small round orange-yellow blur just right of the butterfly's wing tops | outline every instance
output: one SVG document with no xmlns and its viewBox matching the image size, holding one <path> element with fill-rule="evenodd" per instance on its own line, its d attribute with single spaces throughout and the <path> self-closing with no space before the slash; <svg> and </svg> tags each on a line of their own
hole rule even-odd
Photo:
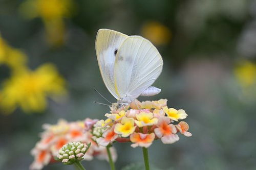
<svg viewBox="0 0 256 170">
<path fill-rule="evenodd" d="M 145 23 L 142 26 L 141 34 L 155 45 L 166 44 L 172 38 L 172 32 L 157 21 Z"/>
</svg>

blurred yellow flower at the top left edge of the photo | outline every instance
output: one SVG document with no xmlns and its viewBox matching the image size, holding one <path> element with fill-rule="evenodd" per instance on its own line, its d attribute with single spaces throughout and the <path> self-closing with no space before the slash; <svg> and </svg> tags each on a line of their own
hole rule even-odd
<svg viewBox="0 0 256 170">
<path fill-rule="evenodd" d="M 20 12 L 29 19 L 42 18 L 48 42 L 59 46 L 65 38 L 63 18 L 71 16 L 72 8 L 72 0 L 27 0 L 20 6 Z"/>
</svg>

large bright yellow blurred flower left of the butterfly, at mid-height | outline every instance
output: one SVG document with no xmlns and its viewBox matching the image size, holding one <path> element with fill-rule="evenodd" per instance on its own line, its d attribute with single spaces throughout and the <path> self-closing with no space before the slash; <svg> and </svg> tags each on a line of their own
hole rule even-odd
<svg viewBox="0 0 256 170">
<path fill-rule="evenodd" d="M 25 112 L 46 109 L 47 96 L 53 99 L 66 93 L 65 81 L 52 64 L 44 64 L 35 71 L 24 69 L 3 84 L 0 107 L 5 113 L 21 107 Z"/>
</svg>

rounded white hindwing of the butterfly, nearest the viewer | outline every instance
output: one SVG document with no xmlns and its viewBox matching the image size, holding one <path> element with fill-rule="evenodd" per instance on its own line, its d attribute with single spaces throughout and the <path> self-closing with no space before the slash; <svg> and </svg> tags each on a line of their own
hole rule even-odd
<svg viewBox="0 0 256 170">
<path fill-rule="evenodd" d="M 163 60 L 157 48 L 141 36 L 121 44 L 114 66 L 115 92 L 120 99 L 134 100 L 158 78 Z"/>
</svg>

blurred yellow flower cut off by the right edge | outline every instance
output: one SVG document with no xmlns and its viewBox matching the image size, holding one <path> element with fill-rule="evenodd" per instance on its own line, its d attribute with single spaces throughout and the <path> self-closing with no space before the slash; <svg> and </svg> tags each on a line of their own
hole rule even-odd
<svg viewBox="0 0 256 170">
<path fill-rule="evenodd" d="M 234 74 L 244 88 L 256 85 L 256 64 L 244 61 L 235 68 Z"/>
</svg>

